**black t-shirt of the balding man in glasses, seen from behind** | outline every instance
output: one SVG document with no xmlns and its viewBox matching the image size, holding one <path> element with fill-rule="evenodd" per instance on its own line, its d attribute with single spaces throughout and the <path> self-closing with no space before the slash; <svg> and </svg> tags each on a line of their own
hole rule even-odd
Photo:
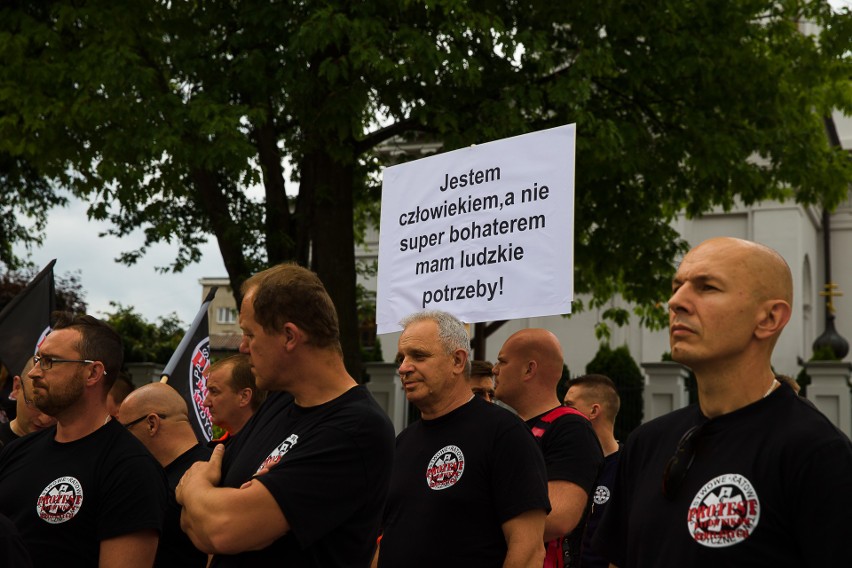
<svg viewBox="0 0 852 568">
<path fill-rule="evenodd" d="M 190 538 L 180 528 L 180 505 L 175 499 L 175 488 L 186 470 L 197 461 L 208 461 L 211 450 L 206 445 L 197 444 L 181 455 L 164 469 L 169 484 L 169 501 L 163 522 L 163 533 L 157 547 L 155 568 L 191 568 L 207 566 L 207 554 L 192 544 Z"/>
</svg>

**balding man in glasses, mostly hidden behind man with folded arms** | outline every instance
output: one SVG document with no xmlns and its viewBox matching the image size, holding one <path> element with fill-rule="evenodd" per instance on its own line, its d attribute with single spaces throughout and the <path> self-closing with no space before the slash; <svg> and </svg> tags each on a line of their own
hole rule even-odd
<svg viewBox="0 0 852 568">
<path fill-rule="evenodd" d="M 144 385 L 121 403 L 119 420 L 160 462 L 168 479 L 168 509 L 154 566 L 207 566 L 207 555 L 180 528 L 180 505 L 175 500 L 175 487 L 184 472 L 197 461 L 207 461 L 211 453 L 195 438 L 183 397 L 167 384 Z"/>
</svg>

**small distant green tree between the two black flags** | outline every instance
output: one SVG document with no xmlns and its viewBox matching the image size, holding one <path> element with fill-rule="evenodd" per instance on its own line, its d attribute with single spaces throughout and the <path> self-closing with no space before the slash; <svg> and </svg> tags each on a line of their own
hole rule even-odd
<svg viewBox="0 0 852 568">
<path fill-rule="evenodd" d="M 147 321 L 133 306 L 110 302 L 112 312 L 105 314 L 106 322 L 121 336 L 124 343 L 124 362 L 154 362 L 166 364 L 180 344 L 186 331 L 177 314 Z"/>
</svg>

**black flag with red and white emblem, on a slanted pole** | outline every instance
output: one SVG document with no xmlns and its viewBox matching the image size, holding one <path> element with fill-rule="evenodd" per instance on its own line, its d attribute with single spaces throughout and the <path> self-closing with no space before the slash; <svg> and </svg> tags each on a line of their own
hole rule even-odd
<svg viewBox="0 0 852 568">
<path fill-rule="evenodd" d="M 210 289 L 201 308 L 192 320 L 186 335 L 163 369 L 161 382 L 168 382 L 177 390 L 189 407 L 189 422 L 195 437 L 201 443 L 213 437 L 213 422 L 210 410 L 202 406 L 207 397 L 207 373 L 210 370 L 210 331 L 207 323 L 207 307 L 213 301 L 218 288 Z"/>
</svg>

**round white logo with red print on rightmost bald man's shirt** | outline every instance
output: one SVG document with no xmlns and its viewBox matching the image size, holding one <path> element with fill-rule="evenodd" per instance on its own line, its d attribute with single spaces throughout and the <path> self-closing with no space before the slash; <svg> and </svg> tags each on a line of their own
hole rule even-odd
<svg viewBox="0 0 852 568">
<path fill-rule="evenodd" d="M 760 520 L 760 501 L 751 482 L 736 473 L 720 475 L 702 487 L 689 507 L 689 534 L 708 548 L 747 539 Z"/>
</svg>

